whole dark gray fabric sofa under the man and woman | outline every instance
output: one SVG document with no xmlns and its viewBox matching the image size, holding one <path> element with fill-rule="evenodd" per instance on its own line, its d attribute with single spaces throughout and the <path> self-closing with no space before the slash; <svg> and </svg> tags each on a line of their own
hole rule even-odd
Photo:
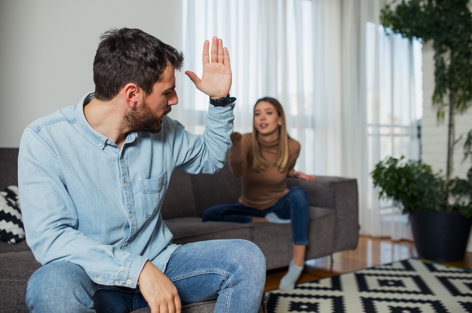
<svg viewBox="0 0 472 313">
<path fill-rule="evenodd" d="M 17 184 L 17 157 L 17 148 L 0 148 L 0 191 Z M 358 201 L 354 179 L 317 177 L 305 182 L 287 178 L 286 183 L 289 188 L 302 186 L 308 193 L 310 224 L 306 259 L 357 246 Z M 164 222 L 174 235 L 173 242 L 246 239 L 261 248 L 267 258 L 267 270 L 288 266 L 292 259 L 289 224 L 202 222 L 204 209 L 236 202 L 240 190 L 240 179 L 230 173 L 228 165 L 212 175 L 190 175 L 176 170 L 161 210 Z M 15 245 L 0 242 L 0 312 L 28 312 L 26 283 L 40 266 L 25 241 Z M 207 312 L 199 311 L 198 307 L 191 305 L 183 312 Z M 208 310 L 208 305 L 205 307 Z"/>
</svg>

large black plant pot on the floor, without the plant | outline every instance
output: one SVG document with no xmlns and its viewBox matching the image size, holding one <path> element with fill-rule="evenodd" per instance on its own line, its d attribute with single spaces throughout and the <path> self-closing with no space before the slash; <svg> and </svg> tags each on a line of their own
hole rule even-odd
<svg viewBox="0 0 472 313">
<path fill-rule="evenodd" d="M 410 210 L 409 214 L 420 257 L 437 261 L 464 259 L 472 218 L 466 219 L 459 212 Z"/>
</svg>

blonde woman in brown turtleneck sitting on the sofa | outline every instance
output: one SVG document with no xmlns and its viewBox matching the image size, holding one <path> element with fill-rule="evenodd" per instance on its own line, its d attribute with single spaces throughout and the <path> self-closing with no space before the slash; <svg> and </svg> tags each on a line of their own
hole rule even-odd
<svg viewBox="0 0 472 313">
<path fill-rule="evenodd" d="M 229 166 L 236 177 L 243 177 L 242 195 L 239 203 L 206 209 L 203 221 L 291 223 L 294 257 L 279 289 L 293 289 L 308 244 L 308 198 L 301 187 L 288 190 L 284 180 L 315 177 L 294 170 L 300 144 L 288 136 L 282 105 L 274 98 L 257 100 L 253 132 L 234 132 L 231 141 Z"/>
</svg>

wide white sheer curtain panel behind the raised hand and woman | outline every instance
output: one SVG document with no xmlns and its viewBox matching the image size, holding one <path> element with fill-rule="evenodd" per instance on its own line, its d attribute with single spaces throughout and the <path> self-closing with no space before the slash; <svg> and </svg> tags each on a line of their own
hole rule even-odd
<svg viewBox="0 0 472 313">
<path fill-rule="evenodd" d="M 213 36 L 228 47 L 237 97 L 235 130 L 252 130 L 263 96 L 284 106 L 291 137 L 302 146 L 296 169 L 339 175 L 340 2 L 183 0 L 185 69 L 202 72 L 202 46 Z M 183 79 L 179 119 L 201 133 L 207 97 Z"/>
</svg>

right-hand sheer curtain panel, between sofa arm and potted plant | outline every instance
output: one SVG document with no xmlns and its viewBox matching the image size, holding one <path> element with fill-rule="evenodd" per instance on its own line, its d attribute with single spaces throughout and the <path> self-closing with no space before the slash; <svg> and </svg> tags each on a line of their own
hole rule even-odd
<svg viewBox="0 0 472 313">
<path fill-rule="evenodd" d="M 342 173 L 358 181 L 361 234 L 412 239 L 408 217 L 379 200 L 369 175 L 385 157 L 420 157 L 421 43 L 385 34 L 386 2 L 343 2 Z"/>
</svg>

